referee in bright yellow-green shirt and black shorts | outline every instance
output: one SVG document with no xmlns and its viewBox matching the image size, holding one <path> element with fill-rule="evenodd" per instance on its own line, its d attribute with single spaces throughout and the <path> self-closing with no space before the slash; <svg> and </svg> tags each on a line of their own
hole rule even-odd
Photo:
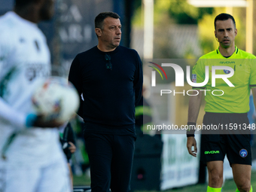
<svg viewBox="0 0 256 192">
<path fill-rule="evenodd" d="M 201 56 L 192 71 L 192 81 L 202 83 L 206 76 L 205 68 L 209 66 L 209 81 L 204 87 L 193 87 L 198 95 L 190 96 L 187 124 L 191 128 L 196 126 L 201 99 L 205 94 L 206 114 L 203 125 L 216 125 L 225 131 L 223 133 L 221 129 L 208 132 L 202 130 L 200 160 L 206 164 L 209 172 L 207 192 L 221 192 L 223 161 L 226 154 L 233 170 L 236 192 L 252 191 L 250 127 L 247 112 L 250 90 L 256 103 L 256 65 L 253 64 L 256 57 L 235 46 L 236 35 L 236 22 L 230 14 L 219 14 L 215 17 L 215 38 L 219 42 L 219 47 Z M 221 78 L 216 79 L 215 86 L 212 85 L 212 66 L 232 68 L 234 74 L 227 81 L 234 87 L 230 87 L 230 84 Z M 216 70 L 216 74 L 230 74 L 230 68 Z M 212 94 L 212 91 L 215 93 Z M 194 129 L 187 131 L 187 150 L 190 155 L 197 157 Z"/>
</svg>

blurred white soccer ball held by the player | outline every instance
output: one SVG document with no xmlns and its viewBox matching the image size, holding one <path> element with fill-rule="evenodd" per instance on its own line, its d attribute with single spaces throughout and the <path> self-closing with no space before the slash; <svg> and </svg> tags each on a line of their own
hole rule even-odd
<svg viewBox="0 0 256 192">
<path fill-rule="evenodd" d="M 64 123 L 74 117 L 79 108 L 79 96 L 75 87 L 66 78 L 50 77 L 41 82 L 32 95 L 37 114 L 44 120 Z"/>
</svg>

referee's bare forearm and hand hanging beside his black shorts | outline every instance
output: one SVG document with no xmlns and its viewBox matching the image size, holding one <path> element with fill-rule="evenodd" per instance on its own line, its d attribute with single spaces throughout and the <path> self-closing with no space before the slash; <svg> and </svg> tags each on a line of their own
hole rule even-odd
<svg viewBox="0 0 256 192">
<path fill-rule="evenodd" d="M 196 94 L 196 93 L 193 93 Z M 187 122 L 197 122 L 197 117 L 200 111 L 200 105 L 202 101 L 203 92 L 199 91 L 197 96 L 190 96 L 188 103 L 188 115 Z M 194 151 L 192 151 L 192 146 L 194 146 Z M 194 136 L 187 137 L 187 151 L 193 157 L 197 157 L 197 141 Z"/>
</svg>

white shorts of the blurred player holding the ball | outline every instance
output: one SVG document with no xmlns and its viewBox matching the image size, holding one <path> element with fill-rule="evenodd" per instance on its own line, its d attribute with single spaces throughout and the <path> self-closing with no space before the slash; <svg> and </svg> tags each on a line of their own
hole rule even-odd
<svg viewBox="0 0 256 192">
<path fill-rule="evenodd" d="M 71 192 L 67 163 L 0 169 L 0 192 Z"/>
</svg>

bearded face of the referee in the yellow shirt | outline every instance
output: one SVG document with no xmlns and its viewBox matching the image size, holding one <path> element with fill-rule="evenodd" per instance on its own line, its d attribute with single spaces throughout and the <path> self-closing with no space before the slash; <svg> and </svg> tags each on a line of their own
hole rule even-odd
<svg viewBox="0 0 256 192">
<path fill-rule="evenodd" d="M 215 25 L 215 37 L 218 38 L 220 46 L 223 48 L 232 47 L 237 34 L 233 20 L 217 20 Z"/>
</svg>

